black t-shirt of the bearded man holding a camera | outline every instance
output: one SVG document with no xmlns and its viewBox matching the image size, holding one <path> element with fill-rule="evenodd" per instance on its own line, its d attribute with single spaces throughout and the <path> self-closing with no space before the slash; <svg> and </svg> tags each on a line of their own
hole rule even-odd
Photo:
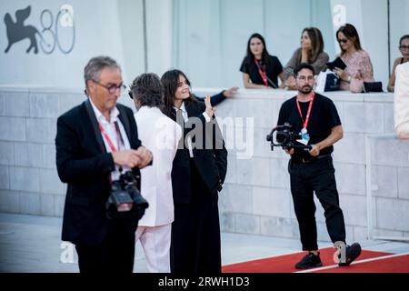
<svg viewBox="0 0 409 291">
<path fill-rule="evenodd" d="M 310 102 L 300 102 L 304 120 L 309 105 Z M 301 129 L 303 128 L 303 120 L 301 119 L 296 105 L 296 96 L 285 101 L 281 106 L 277 125 L 284 125 L 286 122 L 293 125 L 294 134 L 298 135 L 301 132 Z M 323 141 L 331 135 L 332 128 L 337 125 L 341 125 L 341 119 L 339 118 L 334 102 L 323 95 L 315 93 L 314 104 L 307 125 L 308 134 L 310 135 L 308 145 L 315 145 Z M 325 147 L 320 151 L 320 156 L 331 154 L 333 151 L 334 146 Z M 302 157 L 311 158 L 311 155 L 304 150 L 296 149 L 292 157 L 294 159 L 300 159 Z"/>
</svg>

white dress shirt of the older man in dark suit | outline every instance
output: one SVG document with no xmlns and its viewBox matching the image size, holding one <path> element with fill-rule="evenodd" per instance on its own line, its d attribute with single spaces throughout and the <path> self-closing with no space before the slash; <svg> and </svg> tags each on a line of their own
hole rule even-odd
<svg viewBox="0 0 409 291">
<path fill-rule="evenodd" d="M 93 103 L 93 101 L 91 100 L 91 98 L 89 98 L 89 101 L 91 102 L 91 105 L 93 106 L 94 113 L 95 113 L 95 116 L 96 116 L 96 121 L 100 125 L 103 126 L 103 128 L 105 130 L 105 134 L 108 135 L 109 139 L 111 140 L 111 142 L 115 146 L 115 151 L 130 149 L 131 145 L 129 144 L 128 135 L 126 135 L 124 125 L 122 125 L 121 120 L 118 118 L 118 115 L 119 115 L 118 108 L 116 108 L 116 106 L 115 106 L 114 109 L 111 110 L 111 112 L 110 112 L 110 117 L 111 117 L 110 119 L 111 120 L 108 121 L 108 120 L 106 120 L 105 116 L 101 113 L 101 111 L 99 111 L 99 109 L 96 108 L 96 106 Z M 121 140 L 121 138 L 119 138 L 119 140 L 118 140 L 118 135 L 116 133 L 115 123 L 118 124 L 119 132 L 120 132 L 120 135 L 122 137 L 122 140 Z M 112 153 L 111 146 L 109 146 L 108 141 L 106 140 L 106 138 L 105 138 L 105 136 L 103 135 L 102 132 L 101 132 L 101 135 L 102 135 L 103 140 L 104 140 L 106 152 L 107 153 Z M 119 168 L 120 168 L 120 166 L 115 165 L 115 171 L 113 171 L 111 173 L 111 179 L 113 181 L 117 180 L 119 178 L 119 176 L 121 175 L 121 173 L 119 172 Z M 123 173 L 125 173 L 126 171 L 131 170 L 130 168 L 125 167 L 125 166 L 123 166 L 122 169 L 123 169 Z"/>
</svg>

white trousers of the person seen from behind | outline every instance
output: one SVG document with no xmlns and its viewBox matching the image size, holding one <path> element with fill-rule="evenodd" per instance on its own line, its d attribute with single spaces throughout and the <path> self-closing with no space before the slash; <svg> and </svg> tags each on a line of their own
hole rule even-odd
<svg viewBox="0 0 409 291">
<path fill-rule="evenodd" d="M 138 226 L 135 242 L 144 248 L 146 266 L 150 273 L 170 273 L 170 243 L 172 224 Z"/>
</svg>

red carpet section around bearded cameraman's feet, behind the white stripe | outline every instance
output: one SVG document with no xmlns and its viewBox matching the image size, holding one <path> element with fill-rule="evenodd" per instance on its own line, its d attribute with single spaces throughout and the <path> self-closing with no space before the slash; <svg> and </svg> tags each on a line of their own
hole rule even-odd
<svg viewBox="0 0 409 291">
<path fill-rule="evenodd" d="M 327 247 L 320 250 L 321 260 L 324 266 L 333 266 L 334 263 L 334 248 Z M 238 263 L 234 265 L 228 265 L 222 267 L 223 273 L 294 273 L 296 270 L 294 268 L 295 263 L 297 263 L 303 256 L 305 252 L 295 253 L 291 255 L 284 256 L 274 256 L 264 259 L 258 259 L 254 261 L 248 261 L 244 263 Z M 372 251 L 362 251 L 361 256 L 359 256 L 356 261 L 364 260 L 368 258 L 387 256 L 391 255 L 389 253 L 380 253 Z M 345 272 L 345 267 L 340 268 Z"/>
</svg>

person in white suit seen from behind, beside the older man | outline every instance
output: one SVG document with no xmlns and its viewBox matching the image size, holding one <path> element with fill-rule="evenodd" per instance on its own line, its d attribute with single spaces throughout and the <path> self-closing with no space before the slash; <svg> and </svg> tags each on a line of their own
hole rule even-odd
<svg viewBox="0 0 409 291">
<path fill-rule="evenodd" d="M 164 87 L 155 74 L 135 78 L 129 93 L 134 99 L 138 136 L 152 151 L 153 165 L 141 170 L 141 195 L 149 203 L 139 220 L 135 241 L 144 248 L 147 269 L 151 273 L 170 272 L 170 244 L 174 221 L 172 164 L 182 128 L 161 112 Z"/>
</svg>

